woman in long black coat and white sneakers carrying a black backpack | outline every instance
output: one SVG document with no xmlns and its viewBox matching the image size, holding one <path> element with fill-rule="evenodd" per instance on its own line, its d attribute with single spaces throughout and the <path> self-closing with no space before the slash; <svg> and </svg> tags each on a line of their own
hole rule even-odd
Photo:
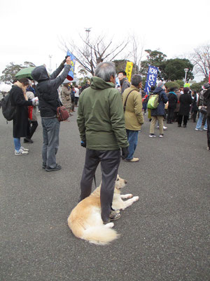
<svg viewBox="0 0 210 281">
<path fill-rule="evenodd" d="M 29 80 L 22 78 L 15 81 L 10 90 L 11 105 L 15 106 L 13 118 L 15 155 L 26 155 L 29 152 L 27 148 L 23 148 L 20 144 L 20 138 L 29 135 L 28 106 L 33 105 L 32 100 L 27 100 L 27 86 L 29 86 Z"/>
</svg>

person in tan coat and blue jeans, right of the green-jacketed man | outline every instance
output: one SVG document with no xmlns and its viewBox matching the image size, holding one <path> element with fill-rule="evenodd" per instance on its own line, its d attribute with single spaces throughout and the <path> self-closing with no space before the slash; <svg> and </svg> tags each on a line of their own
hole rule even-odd
<svg viewBox="0 0 210 281">
<path fill-rule="evenodd" d="M 134 74 L 131 83 L 130 88 L 125 89 L 122 96 L 125 111 L 125 128 L 129 142 L 129 154 L 125 161 L 138 162 L 139 158 L 134 158 L 134 152 L 137 148 L 139 130 L 141 130 L 141 125 L 144 124 L 141 93 L 139 93 L 142 87 L 141 75 Z"/>
</svg>

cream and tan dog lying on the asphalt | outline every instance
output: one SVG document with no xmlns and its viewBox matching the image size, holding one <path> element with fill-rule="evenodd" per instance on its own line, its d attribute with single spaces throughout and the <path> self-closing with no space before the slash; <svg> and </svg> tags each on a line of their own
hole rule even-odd
<svg viewBox="0 0 210 281">
<path fill-rule="evenodd" d="M 125 209 L 139 200 L 139 196 L 132 194 L 120 195 L 120 189 L 124 188 L 127 181 L 123 178 L 116 179 L 112 208 L 115 210 Z M 108 244 L 118 238 L 116 230 L 113 230 L 113 223 L 104 225 L 101 217 L 100 186 L 91 193 L 89 197 L 80 201 L 71 211 L 68 218 L 68 225 L 73 234 L 83 240 L 94 244 Z M 130 198 L 126 201 L 123 199 Z"/>
</svg>

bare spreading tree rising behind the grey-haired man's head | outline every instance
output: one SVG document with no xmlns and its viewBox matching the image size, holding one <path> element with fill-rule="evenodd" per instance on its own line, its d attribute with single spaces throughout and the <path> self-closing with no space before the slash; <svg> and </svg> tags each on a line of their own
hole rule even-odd
<svg viewBox="0 0 210 281">
<path fill-rule="evenodd" d="M 128 44 L 127 41 L 121 41 L 117 45 L 113 45 L 113 40 L 108 41 L 105 37 L 99 36 L 95 39 L 80 36 L 80 43 L 75 44 L 74 41 L 66 42 L 61 40 L 64 51 L 69 50 L 76 58 L 76 61 L 90 74 L 94 74 L 97 64 L 103 61 L 113 61 Z"/>
</svg>

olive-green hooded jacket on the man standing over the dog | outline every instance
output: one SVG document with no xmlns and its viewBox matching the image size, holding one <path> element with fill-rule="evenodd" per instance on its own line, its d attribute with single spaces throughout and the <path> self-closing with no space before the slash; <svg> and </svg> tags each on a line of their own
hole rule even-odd
<svg viewBox="0 0 210 281">
<path fill-rule="evenodd" d="M 90 87 L 80 95 L 77 123 L 80 139 L 90 150 L 118 150 L 129 145 L 123 103 L 111 82 L 92 77 Z"/>
</svg>

